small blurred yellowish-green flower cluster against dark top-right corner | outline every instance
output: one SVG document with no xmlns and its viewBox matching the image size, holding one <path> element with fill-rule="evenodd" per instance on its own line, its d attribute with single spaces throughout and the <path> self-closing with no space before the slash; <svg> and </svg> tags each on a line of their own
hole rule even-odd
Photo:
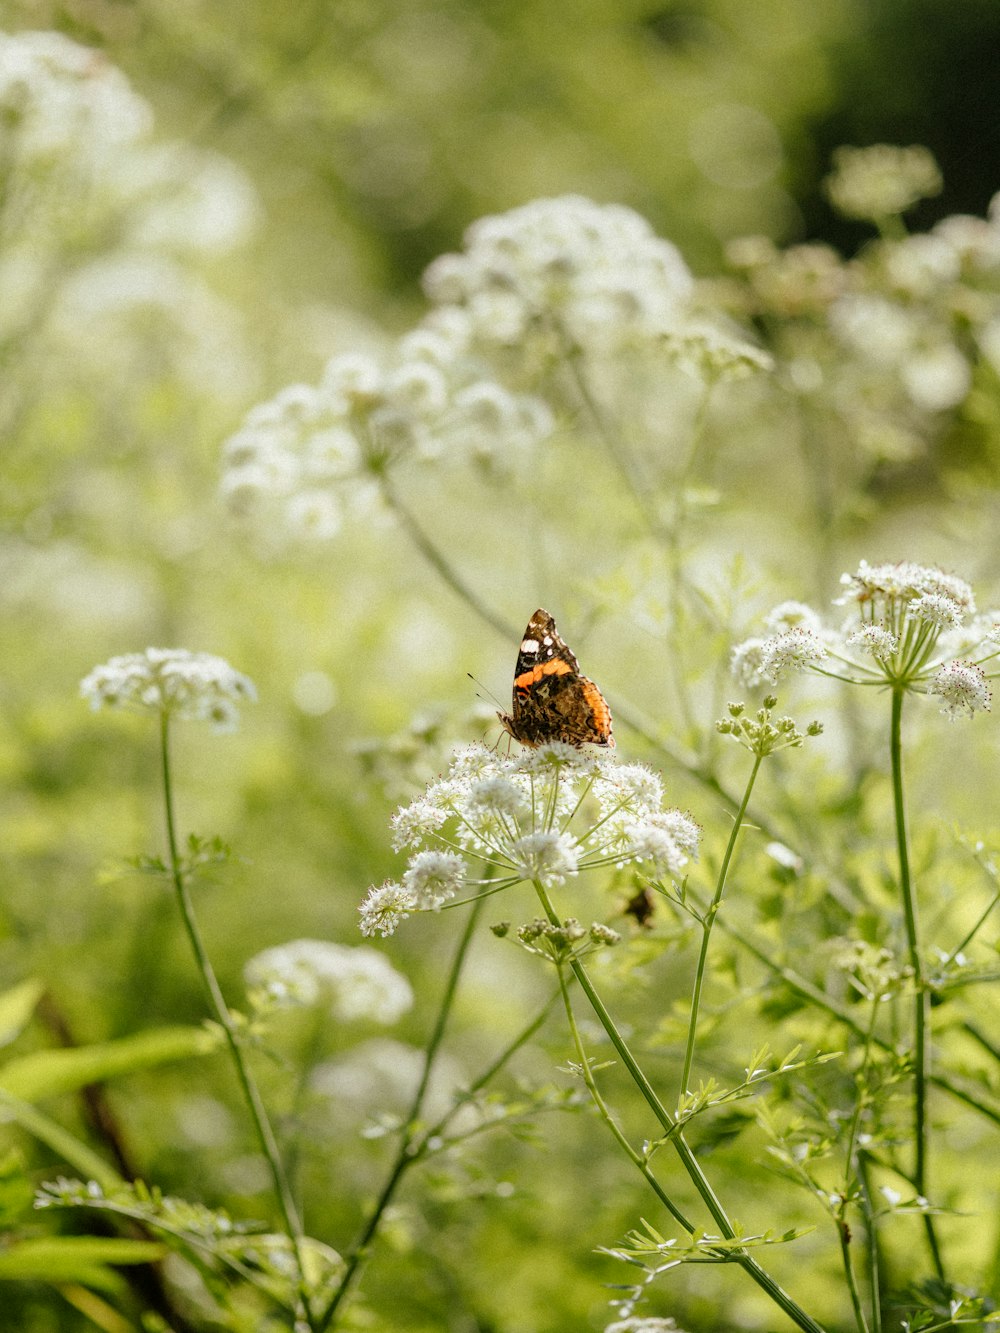
<svg viewBox="0 0 1000 1333">
<path fill-rule="evenodd" d="M 941 193 L 941 173 L 927 148 L 837 148 L 824 185 L 844 217 L 880 223 L 905 213 L 921 199 Z"/>
</svg>

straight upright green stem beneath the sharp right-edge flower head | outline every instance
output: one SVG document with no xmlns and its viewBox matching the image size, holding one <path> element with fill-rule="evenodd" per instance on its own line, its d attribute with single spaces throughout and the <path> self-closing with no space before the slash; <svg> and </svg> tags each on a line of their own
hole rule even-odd
<svg viewBox="0 0 1000 1333">
<path fill-rule="evenodd" d="M 917 922 L 917 902 L 913 880 L 909 872 L 909 846 L 907 838 L 907 813 L 903 798 L 903 685 L 892 690 L 892 724 L 889 752 L 892 760 L 892 802 L 896 817 L 896 850 L 899 856 L 900 893 L 907 924 L 907 948 L 913 973 L 913 1188 L 921 1198 L 927 1197 L 927 1076 L 928 1076 L 928 1032 L 927 1020 L 931 997 L 924 981 L 924 966 L 920 957 L 920 929 Z M 935 1233 L 933 1220 L 924 1214 L 924 1232 L 931 1250 L 935 1270 L 944 1278 L 941 1252 Z"/>
</svg>

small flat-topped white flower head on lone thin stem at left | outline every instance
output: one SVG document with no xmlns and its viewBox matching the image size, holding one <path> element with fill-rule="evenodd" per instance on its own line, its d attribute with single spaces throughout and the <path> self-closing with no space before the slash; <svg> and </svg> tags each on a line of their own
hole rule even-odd
<svg viewBox="0 0 1000 1333">
<path fill-rule="evenodd" d="M 235 729 L 239 705 L 256 698 L 252 681 L 221 657 L 185 648 L 112 657 L 80 681 L 80 693 L 95 709 L 148 709 L 208 721 L 223 732 Z"/>
</svg>

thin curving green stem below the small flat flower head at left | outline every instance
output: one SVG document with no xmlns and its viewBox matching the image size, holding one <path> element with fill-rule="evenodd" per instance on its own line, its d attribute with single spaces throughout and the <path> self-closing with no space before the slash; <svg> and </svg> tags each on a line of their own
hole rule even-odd
<svg viewBox="0 0 1000 1333">
<path fill-rule="evenodd" d="M 304 1232 L 301 1220 L 299 1217 L 299 1210 L 292 1197 L 292 1190 L 288 1184 L 288 1177 L 285 1176 L 284 1166 L 281 1165 L 281 1154 L 279 1152 L 277 1141 L 275 1133 L 271 1128 L 271 1121 L 268 1120 L 267 1110 L 264 1109 L 264 1102 L 261 1100 L 257 1085 L 253 1080 L 253 1074 L 249 1070 L 247 1058 L 244 1056 L 243 1044 L 240 1034 L 233 1022 L 229 1006 L 225 1002 L 221 988 L 215 974 L 215 969 L 208 957 L 204 941 L 201 940 L 201 932 L 197 925 L 197 918 L 195 917 L 195 905 L 188 890 L 187 878 L 184 874 L 184 868 L 181 865 L 180 850 L 177 846 L 177 828 L 173 816 L 173 782 L 171 776 L 171 748 L 169 748 L 169 714 L 165 709 L 160 713 L 160 757 L 161 757 L 161 770 L 163 770 L 163 793 L 164 793 L 164 808 L 167 814 L 167 845 L 169 849 L 171 858 L 171 880 L 173 882 L 173 892 L 177 900 L 177 908 L 180 909 L 181 920 L 184 922 L 184 930 L 187 932 L 188 941 L 191 944 L 192 952 L 195 954 L 195 961 L 197 964 L 197 970 L 201 976 L 201 984 L 205 989 L 205 996 L 208 998 L 209 1008 L 215 1014 L 223 1033 L 225 1034 L 225 1044 L 229 1048 L 229 1054 L 232 1056 L 233 1066 L 236 1069 L 236 1077 L 240 1084 L 240 1090 L 243 1092 L 243 1098 L 247 1102 L 247 1108 L 253 1122 L 253 1129 L 260 1145 L 260 1150 L 267 1160 L 268 1168 L 271 1170 L 271 1180 L 275 1186 L 275 1194 L 277 1197 L 277 1205 L 281 1212 L 281 1218 L 285 1226 L 285 1234 L 292 1242 L 295 1249 L 296 1264 L 299 1269 L 299 1300 L 303 1305 L 303 1312 L 309 1328 L 316 1333 L 316 1321 L 309 1305 L 309 1296 L 305 1282 L 305 1264 L 303 1258 L 303 1240 Z"/>
</svg>

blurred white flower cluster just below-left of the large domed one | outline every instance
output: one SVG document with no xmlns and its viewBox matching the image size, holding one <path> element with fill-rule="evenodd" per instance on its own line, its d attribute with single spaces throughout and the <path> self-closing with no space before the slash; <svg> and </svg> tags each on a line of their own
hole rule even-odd
<svg viewBox="0 0 1000 1333">
<path fill-rule="evenodd" d="M 549 409 L 484 373 L 467 335 L 463 320 L 431 316 L 384 360 L 337 356 L 317 385 L 292 384 L 253 408 L 223 449 L 228 507 L 324 540 L 407 459 L 503 465 L 537 444 L 553 429 Z"/>
</svg>

